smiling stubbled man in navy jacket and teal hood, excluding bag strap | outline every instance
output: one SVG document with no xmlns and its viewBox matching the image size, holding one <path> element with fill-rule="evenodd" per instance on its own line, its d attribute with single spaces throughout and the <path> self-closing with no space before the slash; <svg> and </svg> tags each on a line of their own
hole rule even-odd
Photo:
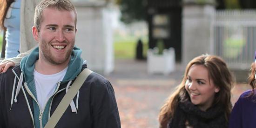
<svg viewBox="0 0 256 128">
<path fill-rule="evenodd" d="M 74 47 L 76 11 L 68 0 L 43 0 L 32 28 L 35 48 L 0 75 L 0 128 L 43 128 L 68 88 L 84 69 Z M 13 85 L 13 86 L 11 86 Z M 92 73 L 55 128 L 120 128 L 114 89 Z"/>
</svg>

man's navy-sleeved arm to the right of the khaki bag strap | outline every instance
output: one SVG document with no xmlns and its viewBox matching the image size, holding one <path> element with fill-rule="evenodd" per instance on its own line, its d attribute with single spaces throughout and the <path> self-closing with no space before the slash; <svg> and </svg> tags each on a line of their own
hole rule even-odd
<svg viewBox="0 0 256 128">
<path fill-rule="evenodd" d="M 92 86 L 93 128 L 121 128 L 115 92 L 108 80 Z"/>
</svg>

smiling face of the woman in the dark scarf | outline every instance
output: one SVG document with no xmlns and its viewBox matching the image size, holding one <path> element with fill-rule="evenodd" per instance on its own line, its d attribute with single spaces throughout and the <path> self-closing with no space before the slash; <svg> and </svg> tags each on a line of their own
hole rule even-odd
<svg viewBox="0 0 256 128">
<path fill-rule="evenodd" d="M 219 92 L 219 88 L 209 78 L 208 70 L 202 65 L 190 67 L 185 88 L 189 93 L 191 102 L 202 111 L 211 107 L 215 94 Z"/>
</svg>

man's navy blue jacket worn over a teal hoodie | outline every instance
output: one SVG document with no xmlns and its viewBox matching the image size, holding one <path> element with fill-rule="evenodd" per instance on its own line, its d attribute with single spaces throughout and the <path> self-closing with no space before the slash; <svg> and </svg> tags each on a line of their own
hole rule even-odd
<svg viewBox="0 0 256 128">
<path fill-rule="evenodd" d="M 13 70 L 20 76 L 20 66 L 14 67 Z M 10 110 L 14 77 L 11 69 L 8 69 L 7 73 L 0 74 L 0 128 L 33 128 L 33 117 L 29 112 L 25 96 L 33 113 L 32 97 L 27 93 L 24 85 L 22 85 L 24 91 L 20 90 L 17 97 L 18 102 L 13 102 Z M 64 89 L 66 86 L 67 83 L 61 85 L 59 90 L 63 89 L 63 91 L 54 95 L 50 115 L 66 94 Z M 80 88 L 77 114 L 71 112 L 68 106 L 55 128 L 121 128 L 115 93 L 110 82 L 97 73 L 90 74 Z"/>
</svg>

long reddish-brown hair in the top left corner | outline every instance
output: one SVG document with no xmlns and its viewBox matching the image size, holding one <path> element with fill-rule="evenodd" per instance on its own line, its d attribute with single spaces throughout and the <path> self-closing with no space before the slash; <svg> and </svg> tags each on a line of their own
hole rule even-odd
<svg viewBox="0 0 256 128">
<path fill-rule="evenodd" d="M 6 30 L 4 27 L 6 13 L 13 2 L 14 0 L 0 0 L 0 28 L 3 30 Z"/>
</svg>

